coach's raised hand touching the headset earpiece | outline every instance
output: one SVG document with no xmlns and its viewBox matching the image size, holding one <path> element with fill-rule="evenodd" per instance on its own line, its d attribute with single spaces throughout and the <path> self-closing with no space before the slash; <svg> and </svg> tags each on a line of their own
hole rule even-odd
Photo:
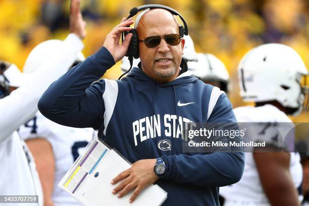
<svg viewBox="0 0 309 206">
<path fill-rule="evenodd" d="M 105 38 L 103 46 L 109 50 L 111 55 L 114 57 L 115 62 L 120 61 L 127 53 L 132 34 L 129 33 L 126 35 L 122 44 L 119 43 L 119 40 L 121 32 L 130 31 L 132 29 L 129 27 L 131 24 L 133 24 L 132 18 L 127 20 L 126 18 L 123 18 L 121 23 L 115 26 Z"/>
</svg>

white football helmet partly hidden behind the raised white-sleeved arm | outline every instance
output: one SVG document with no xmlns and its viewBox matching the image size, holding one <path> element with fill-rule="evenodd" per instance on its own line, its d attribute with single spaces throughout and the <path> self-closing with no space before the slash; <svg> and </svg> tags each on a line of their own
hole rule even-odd
<svg viewBox="0 0 309 206">
<path fill-rule="evenodd" d="M 32 73 L 38 67 L 40 67 L 44 62 L 48 61 L 49 58 L 53 57 L 55 54 L 61 54 L 62 44 L 63 44 L 63 41 L 53 39 L 53 40 L 44 41 L 38 44 L 37 46 L 35 46 L 31 50 L 25 62 L 25 65 L 23 67 L 23 72 Z M 77 53 L 76 60 L 72 66 L 75 66 L 79 62 L 82 62 L 84 60 L 85 60 L 84 55 L 81 52 L 79 52 Z"/>
</svg>

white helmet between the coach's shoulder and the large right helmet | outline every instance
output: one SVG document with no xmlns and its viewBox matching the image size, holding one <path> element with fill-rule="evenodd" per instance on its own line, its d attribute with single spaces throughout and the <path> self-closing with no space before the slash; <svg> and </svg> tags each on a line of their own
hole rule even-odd
<svg viewBox="0 0 309 206">
<path fill-rule="evenodd" d="M 197 62 L 188 62 L 188 71 L 205 82 L 218 82 L 226 93 L 230 90 L 229 73 L 217 57 L 212 54 L 197 53 Z"/>
</svg>

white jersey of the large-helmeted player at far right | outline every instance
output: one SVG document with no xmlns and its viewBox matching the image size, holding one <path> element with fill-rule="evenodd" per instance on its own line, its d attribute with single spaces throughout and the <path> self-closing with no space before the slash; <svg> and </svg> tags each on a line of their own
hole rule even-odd
<svg viewBox="0 0 309 206">
<path fill-rule="evenodd" d="M 283 126 L 288 127 L 285 128 L 287 131 L 294 125 L 285 113 L 272 105 L 261 107 L 240 107 L 234 109 L 234 113 L 238 122 L 286 122 L 287 124 Z M 280 128 L 280 132 L 285 133 L 282 128 Z M 283 135 L 284 134 L 282 134 L 282 136 Z M 270 143 L 272 140 L 267 141 L 264 139 L 263 141 Z M 287 144 L 288 145 L 285 146 L 291 148 L 291 142 L 287 142 Z M 220 188 L 220 195 L 225 198 L 224 206 L 270 206 L 268 198 L 261 185 L 252 152 L 246 152 L 245 156 L 244 173 L 241 180 L 236 184 Z M 290 153 L 290 173 L 295 189 L 298 189 L 302 182 L 302 168 L 298 153 Z M 299 195 L 300 200 L 301 198 L 302 195 Z"/>
</svg>

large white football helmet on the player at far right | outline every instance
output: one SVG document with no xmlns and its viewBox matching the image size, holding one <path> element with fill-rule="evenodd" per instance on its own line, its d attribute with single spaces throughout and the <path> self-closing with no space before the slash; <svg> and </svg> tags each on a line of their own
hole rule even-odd
<svg viewBox="0 0 309 206">
<path fill-rule="evenodd" d="M 291 47 L 269 43 L 251 49 L 242 58 L 238 74 L 244 101 L 277 100 L 283 107 L 295 109 L 291 115 L 301 112 L 308 87 L 300 83 L 308 71 Z"/>
</svg>

